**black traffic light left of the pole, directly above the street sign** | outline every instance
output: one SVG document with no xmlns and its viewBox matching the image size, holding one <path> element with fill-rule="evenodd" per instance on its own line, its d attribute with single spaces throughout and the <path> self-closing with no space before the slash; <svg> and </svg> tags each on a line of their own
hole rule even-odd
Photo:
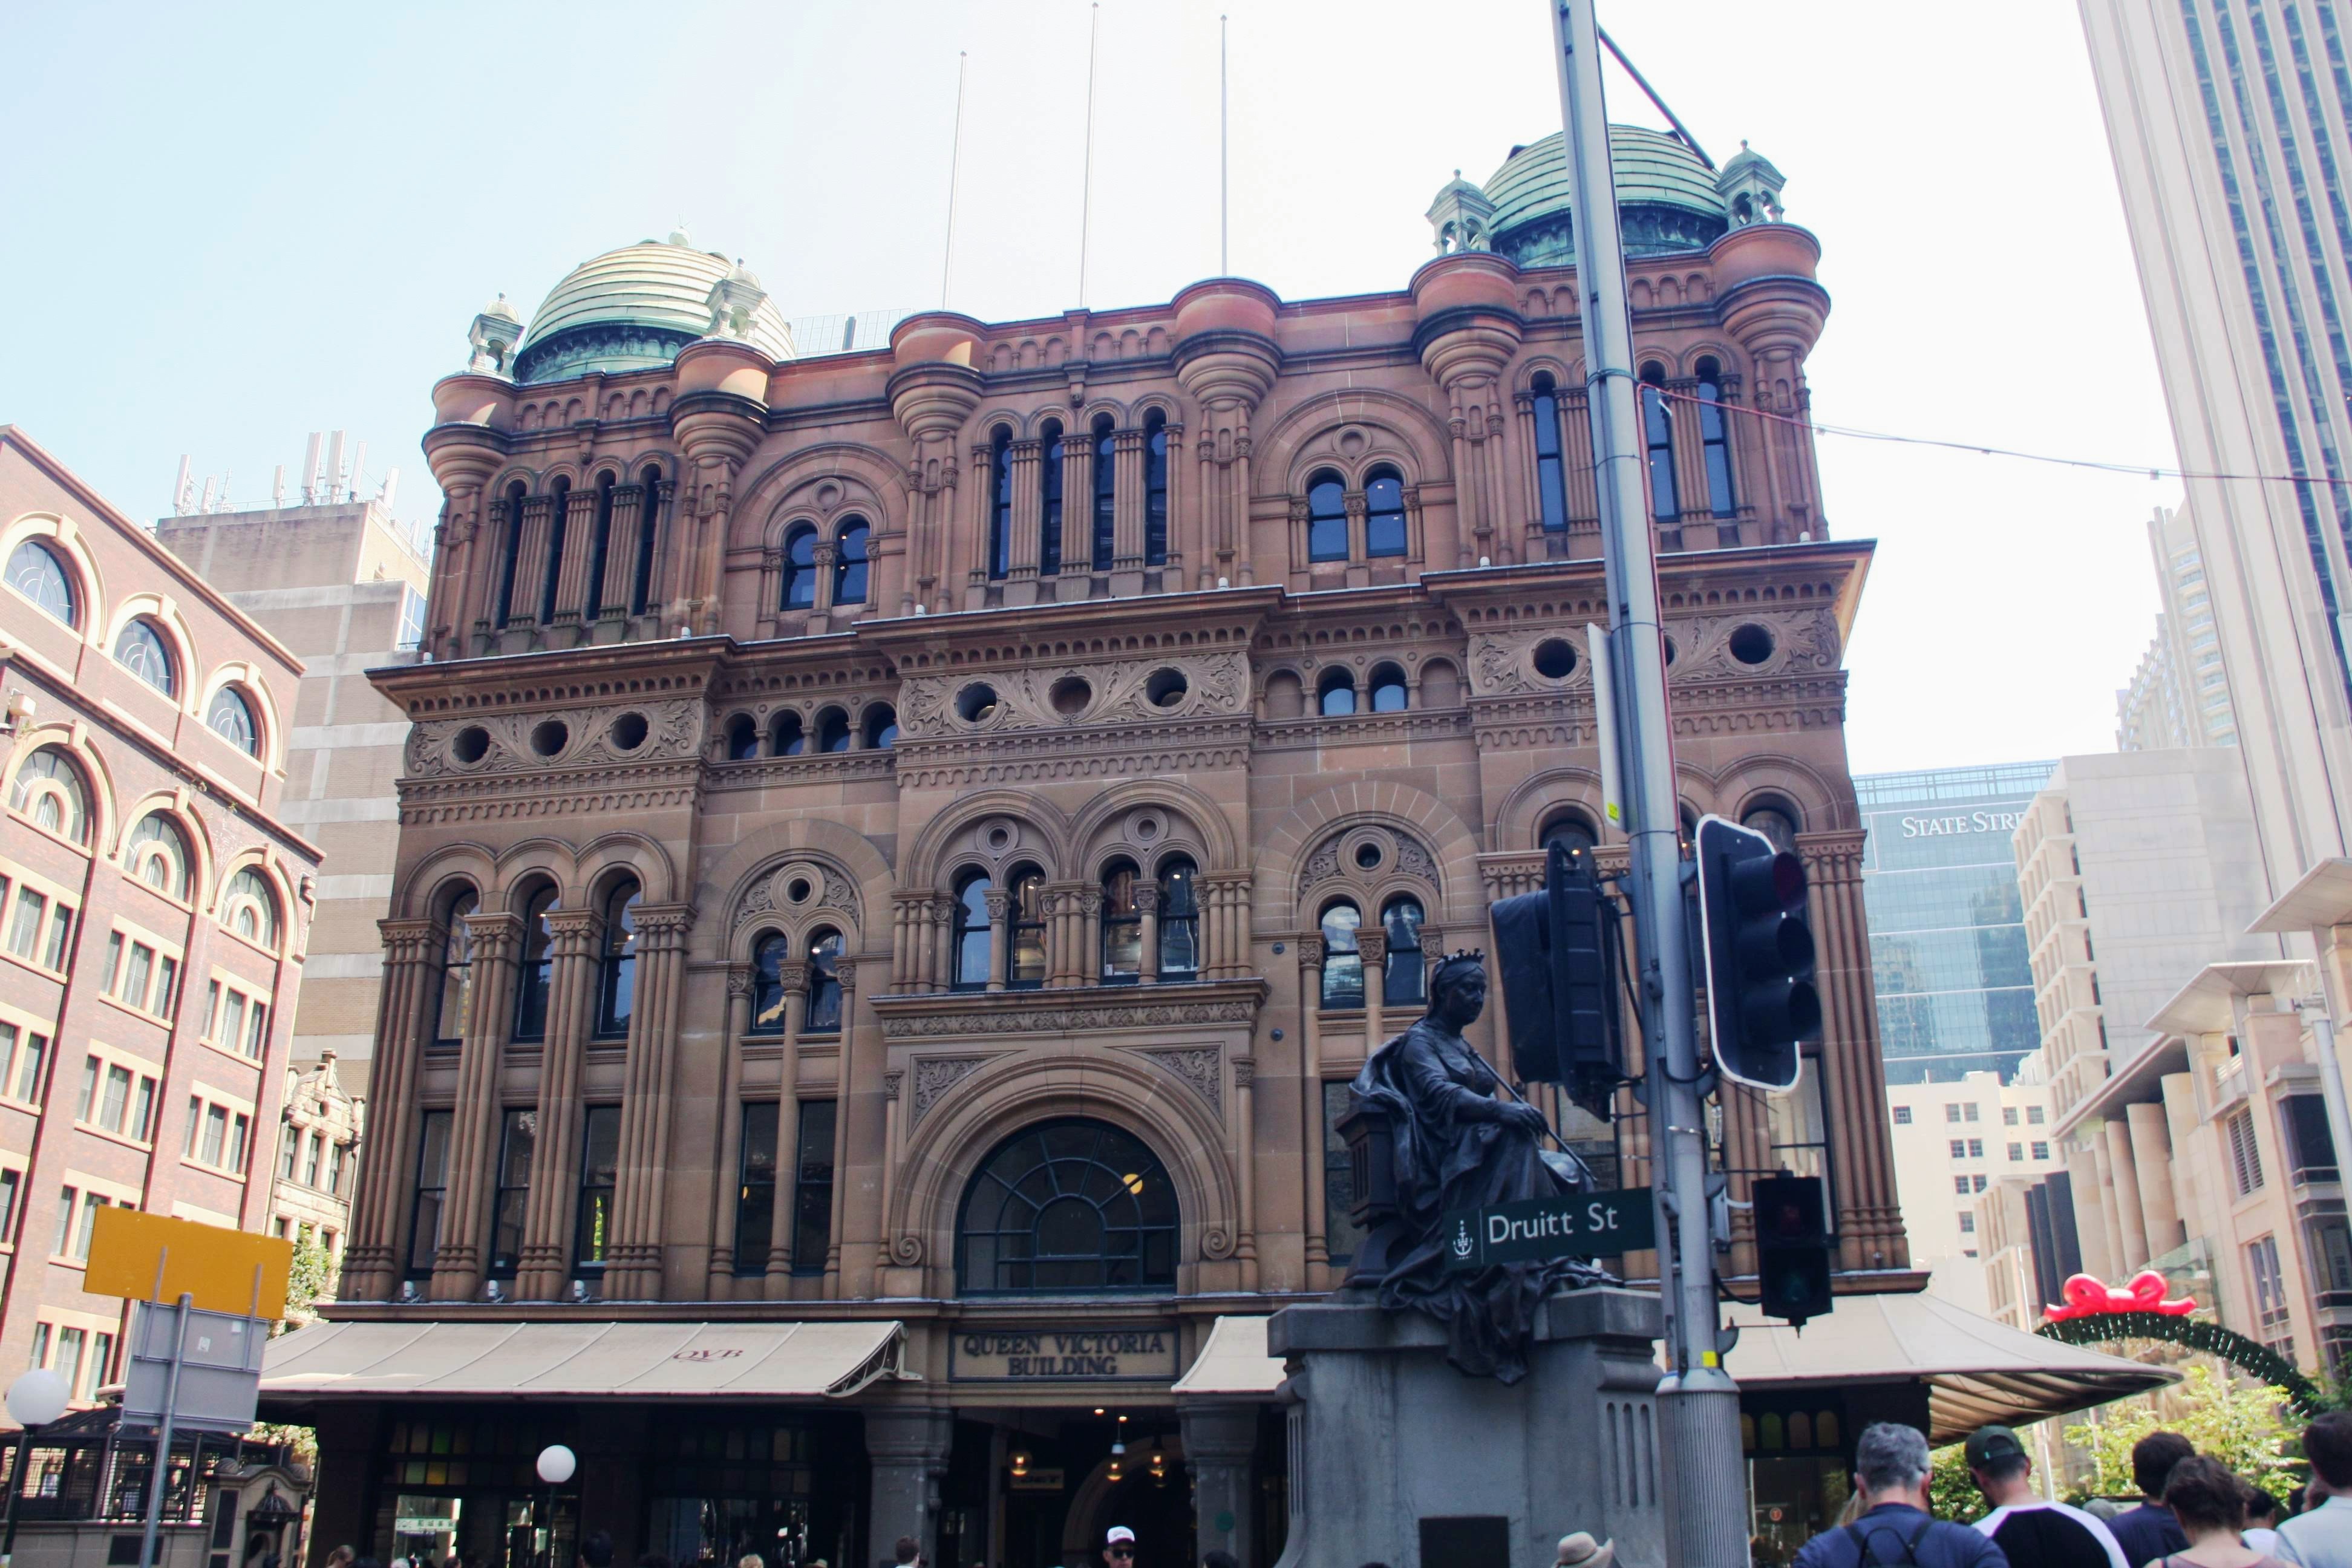
<svg viewBox="0 0 2352 1568">
<path fill-rule="evenodd" d="M 1595 1117 L 1625 1077 L 1618 922 L 1588 856 L 1552 844 L 1543 891 L 1494 905 L 1510 1060 L 1529 1084 L 1564 1084 Z"/>
</svg>

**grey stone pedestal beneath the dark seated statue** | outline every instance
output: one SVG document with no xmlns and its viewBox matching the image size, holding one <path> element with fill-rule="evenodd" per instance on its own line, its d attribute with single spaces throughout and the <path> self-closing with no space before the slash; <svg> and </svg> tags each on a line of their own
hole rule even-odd
<svg viewBox="0 0 2352 1568">
<path fill-rule="evenodd" d="M 1616 1540 L 1625 1568 L 1665 1563 L 1656 1335 L 1656 1295 L 1555 1295 L 1529 1375 L 1503 1387 L 1446 1366 L 1418 1312 L 1284 1307 L 1268 1326 L 1296 1368 L 1277 1568 L 1526 1568 L 1569 1530 Z"/>
</svg>

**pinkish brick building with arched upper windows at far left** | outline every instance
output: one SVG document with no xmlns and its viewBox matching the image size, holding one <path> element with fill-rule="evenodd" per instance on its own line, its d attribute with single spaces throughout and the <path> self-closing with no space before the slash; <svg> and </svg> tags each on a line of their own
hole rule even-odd
<svg viewBox="0 0 2352 1568">
<path fill-rule="evenodd" d="M 0 1359 L 78 1399 L 125 1302 L 108 1204 L 261 1229 L 320 851 L 285 820 L 301 663 L 0 425 Z"/>
</svg>

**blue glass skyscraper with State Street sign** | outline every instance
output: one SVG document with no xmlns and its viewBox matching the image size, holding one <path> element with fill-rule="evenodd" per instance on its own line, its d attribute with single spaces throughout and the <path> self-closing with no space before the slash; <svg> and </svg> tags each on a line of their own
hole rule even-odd
<svg viewBox="0 0 2352 1568">
<path fill-rule="evenodd" d="M 2016 1077 L 2042 1044 L 2009 844 L 2049 762 L 1867 773 L 1863 905 L 1889 1084 Z"/>
</svg>

